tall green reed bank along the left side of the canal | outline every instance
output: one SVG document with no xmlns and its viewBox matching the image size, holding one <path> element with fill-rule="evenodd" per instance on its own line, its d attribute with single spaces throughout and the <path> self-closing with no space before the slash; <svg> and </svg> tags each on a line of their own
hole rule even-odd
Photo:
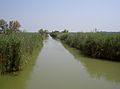
<svg viewBox="0 0 120 89">
<path fill-rule="evenodd" d="M 19 71 L 29 61 L 32 53 L 40 49 L 43 36 L 38 33 L 0 34 L 0 71 Z"/>
</svg>

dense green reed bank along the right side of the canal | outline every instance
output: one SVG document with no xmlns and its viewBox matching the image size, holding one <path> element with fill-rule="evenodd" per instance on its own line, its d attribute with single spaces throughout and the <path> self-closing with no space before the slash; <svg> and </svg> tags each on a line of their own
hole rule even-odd
<svg viewBox="0 0 120 89">
<path fill-rule="evenodd" d="M 85 55 L 120 61 L 120 33 L 51 33 L 51 36 Z"/>
</svg>

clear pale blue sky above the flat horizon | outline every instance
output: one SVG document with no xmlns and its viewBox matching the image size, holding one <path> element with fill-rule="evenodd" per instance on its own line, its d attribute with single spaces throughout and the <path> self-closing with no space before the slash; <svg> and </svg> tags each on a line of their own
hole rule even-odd
<svg viewBox="0 0 120 89">
<path fill-rule="evenodd" d="M 120 0 L 0 0 L 0 19 L 26 31 L 120 31 Z"/>
</svg>

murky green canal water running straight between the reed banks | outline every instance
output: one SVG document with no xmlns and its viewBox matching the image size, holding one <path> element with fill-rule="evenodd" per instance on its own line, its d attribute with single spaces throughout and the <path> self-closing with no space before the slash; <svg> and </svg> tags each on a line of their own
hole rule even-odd
<svg viewBox="0 0 120 89">
<path fill-rule="evenodd" d="M 120 63 L 84 57 L 49 37 L 16 76 L 0 76 L 0 89 L 120 89 Z"/>
</svg>

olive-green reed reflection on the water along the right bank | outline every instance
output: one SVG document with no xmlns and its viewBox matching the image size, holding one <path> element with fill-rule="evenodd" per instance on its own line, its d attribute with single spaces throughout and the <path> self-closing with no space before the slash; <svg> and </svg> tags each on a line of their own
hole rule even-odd
<svg viewBox="0 0 120 89">
<path fill-rule="evenodd" d="M 64 47 L 81 62 L 91 77 L 120 84 L 120 63 L 84 57 L 80 51 L 65 44 Z"/>
</svg>

